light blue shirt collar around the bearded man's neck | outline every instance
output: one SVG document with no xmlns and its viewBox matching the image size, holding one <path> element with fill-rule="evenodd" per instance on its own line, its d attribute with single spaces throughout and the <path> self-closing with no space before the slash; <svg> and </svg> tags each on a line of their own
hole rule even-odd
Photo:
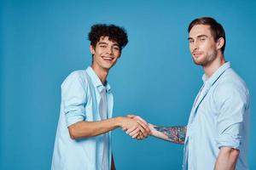
<svg viewBox="0 0 256 170">
<path fill-rule="evenodd" d="M 230 62 L 226 62 L 224 63 L 224 65 L 221 65 L 221 67 L 219 67 L 218 70 L 215 71 L 211 77 L 208 78 L 207 75 L 204 74 L 202 77 L 203 82 L 209 83 L 209 85 L 212 86 L 212 84 L 218 80 L 218 77 L 220 77 L 224 73 L 224 71 L 226 71 L 230 67 Z"/>
</svg>

